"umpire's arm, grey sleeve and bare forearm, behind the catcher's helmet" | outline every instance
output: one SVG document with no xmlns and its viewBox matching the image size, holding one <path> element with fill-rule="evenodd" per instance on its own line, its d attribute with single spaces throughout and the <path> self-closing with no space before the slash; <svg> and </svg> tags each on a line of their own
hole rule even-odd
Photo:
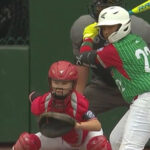
<svg viewBox="0 0 150 150">
<path fill-rule="evenodd" d="M 90 15 L 83 15 L 73 23 L 70 30 L 70 39 L 72 41 L 73 54 L 75 57 L 80 54 L 80 46 L 83 42 L 82 39 L 84 28 L 93 22 L 94 19 Z M 79 78 L 77 81 L 76 90 L 79 93 L 83 93 L 88 80 L 89 67 L 77 65 L 77 69 L 79 72 Z"/>
</svg>

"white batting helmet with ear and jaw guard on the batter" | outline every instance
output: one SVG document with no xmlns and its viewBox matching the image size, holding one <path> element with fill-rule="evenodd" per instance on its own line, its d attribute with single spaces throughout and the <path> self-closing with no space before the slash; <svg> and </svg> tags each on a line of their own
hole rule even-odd
<svg viewBox="0 0 150 150">
<path fill-rule="evenodd" d="M 111 6 L 101 11 L 97 26 L 117 24 L 121 26 L 108 37 L 110 43 L 117 42 L 129 34 L 131 31 L 131 19 L 128 11 L 120 6 Z"/>
</svg>

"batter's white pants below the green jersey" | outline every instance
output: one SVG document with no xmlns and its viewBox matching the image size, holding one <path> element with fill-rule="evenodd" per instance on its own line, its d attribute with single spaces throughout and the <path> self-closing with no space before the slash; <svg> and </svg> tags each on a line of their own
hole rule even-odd
<svg viewBox="0 0 150 150">
<path fill-rule="evenodd" d="M 143 150 L 150 138 L 150 92 L 138 96 L 110 134 L 112 150 Z"/>
</svg>

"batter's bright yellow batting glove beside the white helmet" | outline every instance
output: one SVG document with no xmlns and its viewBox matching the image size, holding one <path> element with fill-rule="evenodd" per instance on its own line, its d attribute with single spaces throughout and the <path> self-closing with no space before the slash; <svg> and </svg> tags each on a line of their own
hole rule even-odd
<svg viewBox="0 0 150 150">
<path fill-rule="evenodd" d="M 96 25 L 97 25 L 97 22 L 94 22 L 84 28 L 83 39 L 90 38 L 93 40 L 98 35 L 99 28 L 96 27 Z"/>
</svg>

